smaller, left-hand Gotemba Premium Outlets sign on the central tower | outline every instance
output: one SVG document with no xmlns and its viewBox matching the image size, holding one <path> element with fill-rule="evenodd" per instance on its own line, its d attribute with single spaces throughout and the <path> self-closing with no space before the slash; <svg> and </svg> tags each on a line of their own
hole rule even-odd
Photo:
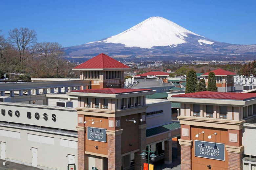
<svg viewBox="0 0 256 170">
<path fill-rule="evenodd" d="M 107 142 L 106 129 L 87 127 L 87 139 L 99 142 Z"/>
</svg>

